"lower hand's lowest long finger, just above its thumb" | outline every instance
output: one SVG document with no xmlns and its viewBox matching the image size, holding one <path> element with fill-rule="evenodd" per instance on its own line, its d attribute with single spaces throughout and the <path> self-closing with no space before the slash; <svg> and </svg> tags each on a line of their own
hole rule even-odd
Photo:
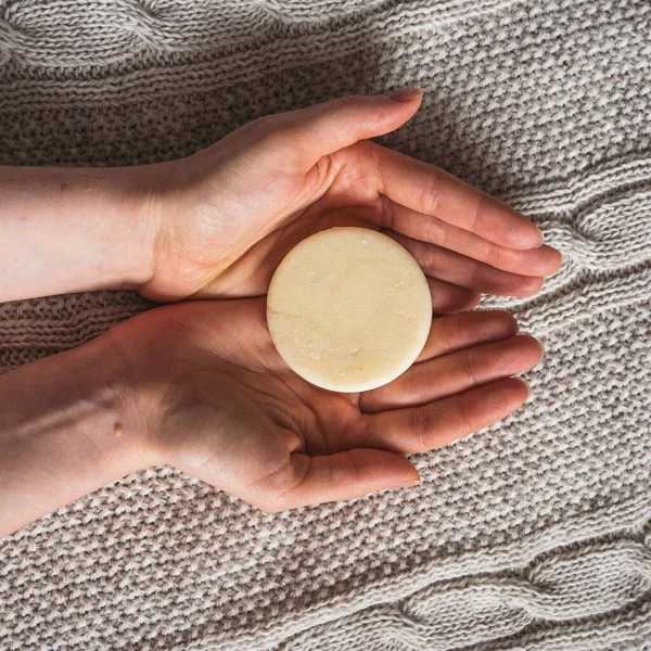
<svg viewBox="0 0 651 651">
<path fill-rule="evenodd" d="M 496 423 L 527 395 L 525 382 L 508 378 L 437 403 L 369 414 L 366 430 L 352 437 L 350 445 L 399 454 L 431 450 Z"/>
</svg>

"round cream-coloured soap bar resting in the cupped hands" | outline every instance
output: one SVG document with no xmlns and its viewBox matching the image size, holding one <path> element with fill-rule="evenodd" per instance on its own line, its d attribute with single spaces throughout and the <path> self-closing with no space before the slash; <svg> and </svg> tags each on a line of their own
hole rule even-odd
<svg viewBox="0 0 651 651">
<path fill-rule="evenodd" d="M 404 373 L 432 324 L 427 281 L 411 255 L 366 228 L 332 228 L 299 242 L 269 286 L 273 344 L 298 375 L 360 392 Z"/>
</svg>

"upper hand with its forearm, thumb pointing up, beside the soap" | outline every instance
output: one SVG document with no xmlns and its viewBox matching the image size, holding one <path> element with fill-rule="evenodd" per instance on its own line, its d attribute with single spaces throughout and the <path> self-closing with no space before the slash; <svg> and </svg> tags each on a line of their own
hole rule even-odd
<svg viewBox="0 0 651 651">
<path fill-rule="evenodd" d="M 187 158 L 110 168 L 0 166 L 0 302 L 127 288 L 159 301 L 261 295 L 284 254 L 333 226 L 382 229 L 434 310 L 527 296 L 561 264 L 525 217 L 368 140 L 420 105 L 345 97 L 237 129 Z"/>
</svg>

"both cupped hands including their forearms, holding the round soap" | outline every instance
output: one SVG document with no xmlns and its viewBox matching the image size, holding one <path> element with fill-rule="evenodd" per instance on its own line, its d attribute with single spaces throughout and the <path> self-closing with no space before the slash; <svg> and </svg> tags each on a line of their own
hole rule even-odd
<svg viewBox="0 0 651 651">
<path fill-rule="evenodd" d="M 507 312 L 456 312 L 482 293 L 535 294 L 561 256 L 502 202 L 369 140 L 420 102 L 339 98 L 157 165 L 0 168 L 0 299 L 120 286 L 191 299 L 0 376 L 0 534 L 152 464 L 267 511 L 409 486 L 403 455 L 522 405 L 512 375 L 538 342 Z M 404 245 L 438 315 L 417 363 L 361 394 L 291 372 L 265 321 L 282 257 L 334 226 Z"/>
</svg>

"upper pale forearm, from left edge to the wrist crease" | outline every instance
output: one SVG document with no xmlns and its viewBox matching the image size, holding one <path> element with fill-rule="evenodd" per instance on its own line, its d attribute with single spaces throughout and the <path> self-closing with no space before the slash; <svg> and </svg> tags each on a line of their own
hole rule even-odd
<svg viewBox="0 0 651 651">
<path fill-rule="evenodd" d="M 0 302 L 145 283 L 153 171 L 0 167 Z"/>
</svg>

